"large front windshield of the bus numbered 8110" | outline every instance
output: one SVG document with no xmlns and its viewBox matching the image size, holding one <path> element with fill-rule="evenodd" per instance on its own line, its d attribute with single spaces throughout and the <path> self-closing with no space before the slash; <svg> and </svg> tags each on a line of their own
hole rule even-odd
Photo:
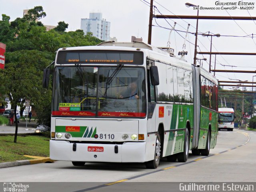
<svg viewBox="0 0 256 192">
<path fill-rule="evenodd" d="M 145 90 L 141 67 L 56 67 L 52 115 L 145 117 Z"/>
</svg>

